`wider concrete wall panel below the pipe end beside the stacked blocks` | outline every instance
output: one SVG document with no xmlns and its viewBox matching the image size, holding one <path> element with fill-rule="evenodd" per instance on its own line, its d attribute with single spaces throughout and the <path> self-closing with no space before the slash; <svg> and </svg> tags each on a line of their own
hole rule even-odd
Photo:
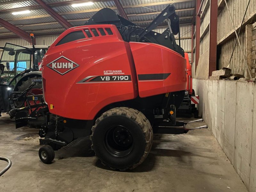
<svg viewBox="0 0 256 192">
<path fill-rule="evenodd" d="M 236 88 L 236 81 L 226 82 L 224 152 L 232 165 L 235 153 Z"/>
</svg>

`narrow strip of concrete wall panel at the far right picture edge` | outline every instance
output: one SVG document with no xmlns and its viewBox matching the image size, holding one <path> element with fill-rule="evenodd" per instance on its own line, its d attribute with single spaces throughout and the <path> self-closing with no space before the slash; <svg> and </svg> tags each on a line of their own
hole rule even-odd
<svg viewBox="0 0 256 192">
<path fill-rule="evenodd" d="M 256 191 L 256 84 L 254 84 L 254 106 L 252 125 L 252 160 L 250 175 L 250 192 Z"/>
</svg>

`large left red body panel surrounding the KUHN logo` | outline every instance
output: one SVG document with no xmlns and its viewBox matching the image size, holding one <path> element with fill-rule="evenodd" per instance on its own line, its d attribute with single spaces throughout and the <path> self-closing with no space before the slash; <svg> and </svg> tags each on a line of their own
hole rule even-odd
<svg viewBox="0 0 256 192">
<path fill-rule="evenodd" d="M 90 120 L 110 103 L 137 97 L 137 79 L 129 43 L 123 41 L 116 26 L 100 25 L 100 28 L 104 27 L 111 28 L 113 35 L 93 36 L 55 46 L 70 31 L 97 26 L 70 28 L 46 52 L 42 63 L 42 76 L 45 101 L 51 113 Z M 61 75 L 46 66 L 60 56 L 75 62 L 79 67 Z M 131 81 L 78 83 L 88 76 L 103 76 L 104 70 L 121 70 L 123 75 L 131 75 Z"/>
</svg>

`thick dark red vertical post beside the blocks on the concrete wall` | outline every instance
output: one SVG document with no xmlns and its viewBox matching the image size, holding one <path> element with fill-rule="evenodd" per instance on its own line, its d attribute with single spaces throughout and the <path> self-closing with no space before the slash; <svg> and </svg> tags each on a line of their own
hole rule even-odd
<svg viewBox="0 0 256 192">
<path fill-rule="evenodd" d="M 209 76 L 217 70 L 217 24 L 218 24 L 218 1 L 210 1 L 210 55 Z"/>
</svg>

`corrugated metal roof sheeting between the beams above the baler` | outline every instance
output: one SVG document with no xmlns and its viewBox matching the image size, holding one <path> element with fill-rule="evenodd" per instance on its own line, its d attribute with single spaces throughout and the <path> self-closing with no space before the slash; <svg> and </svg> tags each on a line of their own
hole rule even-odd
<svg viewBox="0 0 256 192">
<path fill-rule="evenodd" d="M 61 3 L 70 0 L 43 0 L 45 3 Z M 139 26 L 147 26 L 150 22 L 156 18 L 158 14 L 156 12 L 162 11 L 170 0 L 120 0 L 121 4 L 124 7 L 125 12 L 128 15 L 129 20 L 135 22 Z M 6 2 L 6 4 L 3 4 Z M 36 1 L 28 0 L 21 1 L 16 3 L 11 3 L 11 0 L 1 0 L 0 4 L 0 18 L 4 19 L 11 24 L 20 27 L 25 31 L 35 31 L 35 34 L 50 34 L 50 33 L 61 33 L 64 29 L 63 27 L 57 23 L 57 21 L 52 18 L 49 13 L 47 13 L 44 9 L 35 9 L 31 10 L 28 14 L 20 14 L 20 15 L 12 15 L 11 13 L 1 14 L 1 10 L 13 9 L 13 8 L 21 8 L 26 6 L 37 5 Z M 173 1 L 174 3 L 176 1 Z M 159 4 L 162 3 L 162 4 Z M 152 5 L 150 5 L 152 4 Z M 146 6 L 143 6 L 146 5 Z M 193 8 L 195 6 L 195 1 L 191 0 L 188 2 L 175 3 L 176 9 L 188 9 Z M 57 13 L 69 21 L 69 23 L 73 26 L 83 25 L 87 19 L 91 18 L 98 10 L 109 7 L 113 8 L 113 10 L 118 13 L 116 9 L 116 5 L 114 1 L 104 1 L 104 2 L 95 2 L 90 6 L 82 6 L 82 7 L 72 7 L 71 5 L 60 5 L 53 6 L 52 9 Z M 177 11 L 177 14 L 180 17 L 192 16 L 194 10 L 185 10 L 185 11 Z M 152 14 L 145 14 L 152 13 Z M 134 15 L 137 14 L 137 15 Z M 139 15 L 138 15 L 139 14 Z M 182 19 L 180 22 L 191 22 L 192 18 Z M 37 25 L 38 23 L 42 23 L 41 25 Z M 163 22 L 164 25 L 167 25 L 166 22 Z M 8 33 L 8 34 L 7 34 Z M 0 29 L 0 38 L 6 36 L 15 36 L 15 34 L 10 33 L 9 30 Z"/>
</svg>

